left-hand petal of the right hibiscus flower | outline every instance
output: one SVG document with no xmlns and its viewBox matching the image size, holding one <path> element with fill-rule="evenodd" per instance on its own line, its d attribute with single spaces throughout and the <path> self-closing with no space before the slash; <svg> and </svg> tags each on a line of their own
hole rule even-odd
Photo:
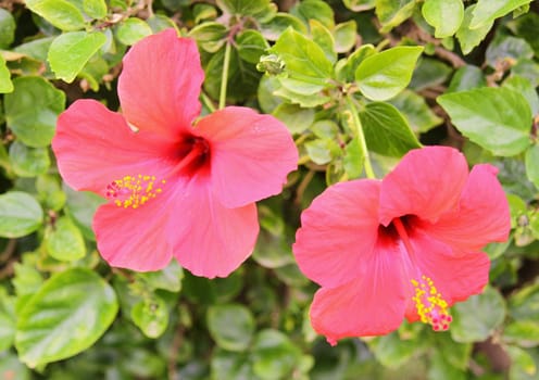
<svg viewBox="0 0 539 380">
<path fill-rule="evenodd" d="M 303 211 L 292 249 L 306 277 L 337 287 L 358 276 L 376 242 L 379 188 L 366 179 L 340 182 Z"/>
</svg>

